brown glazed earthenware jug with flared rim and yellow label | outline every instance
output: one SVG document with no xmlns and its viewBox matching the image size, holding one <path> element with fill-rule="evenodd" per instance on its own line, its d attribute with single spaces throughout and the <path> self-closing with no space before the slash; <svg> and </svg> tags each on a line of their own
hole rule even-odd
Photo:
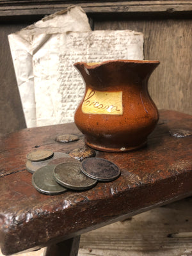
<svg viewBox="0 0 192 256">
<path fill-rule="evenodd" d="M 75 113 L 85 143 L 97 150 L 123 152 L 147 143 L 159 114 L 148 94 L 148 78 L 159 61 L 78 62 L 86 90 Z"/>
</svg>

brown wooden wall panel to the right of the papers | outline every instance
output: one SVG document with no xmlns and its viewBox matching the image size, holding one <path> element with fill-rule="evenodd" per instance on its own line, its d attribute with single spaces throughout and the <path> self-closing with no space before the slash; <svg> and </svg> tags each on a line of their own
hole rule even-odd
<svg viewBox="0 0 192 256">
<path fill-rule="evenodd" d="M 97 20 L 94 29 L 142 32 L 145 60 L 161 62 L 148 82 L 157 108 L 192 114 L 191 20 Z"/>
</svg>

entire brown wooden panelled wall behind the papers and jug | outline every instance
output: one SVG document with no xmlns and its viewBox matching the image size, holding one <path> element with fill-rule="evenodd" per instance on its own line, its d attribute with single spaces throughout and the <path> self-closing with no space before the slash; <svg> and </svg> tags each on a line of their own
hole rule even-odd
<svg viewBox="0 0 192 256">
<path fill-rule="evenodd" d="M 159 109 L 192 114 L 192 1 L 21 2 L 0 1 L 0 134 L 26 127 L 7 35 L 79 2 L 93 29 L 143 32 L 145 60 L 161 61 L 149 81 L 152 99 Z"/>
</svg>

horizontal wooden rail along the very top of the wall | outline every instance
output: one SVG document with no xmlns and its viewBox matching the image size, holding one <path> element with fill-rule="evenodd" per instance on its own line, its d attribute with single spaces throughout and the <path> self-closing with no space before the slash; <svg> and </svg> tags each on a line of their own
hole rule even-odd
<svg viewBox="0 0 192 256">
<path fill-rule="evenodd" d="M 192 1 L 0 1 L 0 17 L 17 15 L 47 15 L 56 11 L 63 10 L 68 6 L 80 5 L 86 13 L 90 14 L 122 14 L 138 16 L 142 13 L 147 15 L 173 15 L 183 13 L 189 15 L 192 12 Z M 97 17 L 97 16 L 96 16 Z M 113 17 L 113 16 L 112 16 Z"/>
</svg>

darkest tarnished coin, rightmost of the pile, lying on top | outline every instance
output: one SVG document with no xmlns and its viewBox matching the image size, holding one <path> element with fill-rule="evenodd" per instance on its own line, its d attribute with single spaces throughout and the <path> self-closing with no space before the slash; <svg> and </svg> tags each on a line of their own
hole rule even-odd
<svg viewBox="0 0 192 256">
<path fill-rule="evenodd" d="M 84 159 L 81 170 L 88 177 L 100 181 L 115 180 L 120 175 L 116 164 L 98 157 Z"/>
</svg>

